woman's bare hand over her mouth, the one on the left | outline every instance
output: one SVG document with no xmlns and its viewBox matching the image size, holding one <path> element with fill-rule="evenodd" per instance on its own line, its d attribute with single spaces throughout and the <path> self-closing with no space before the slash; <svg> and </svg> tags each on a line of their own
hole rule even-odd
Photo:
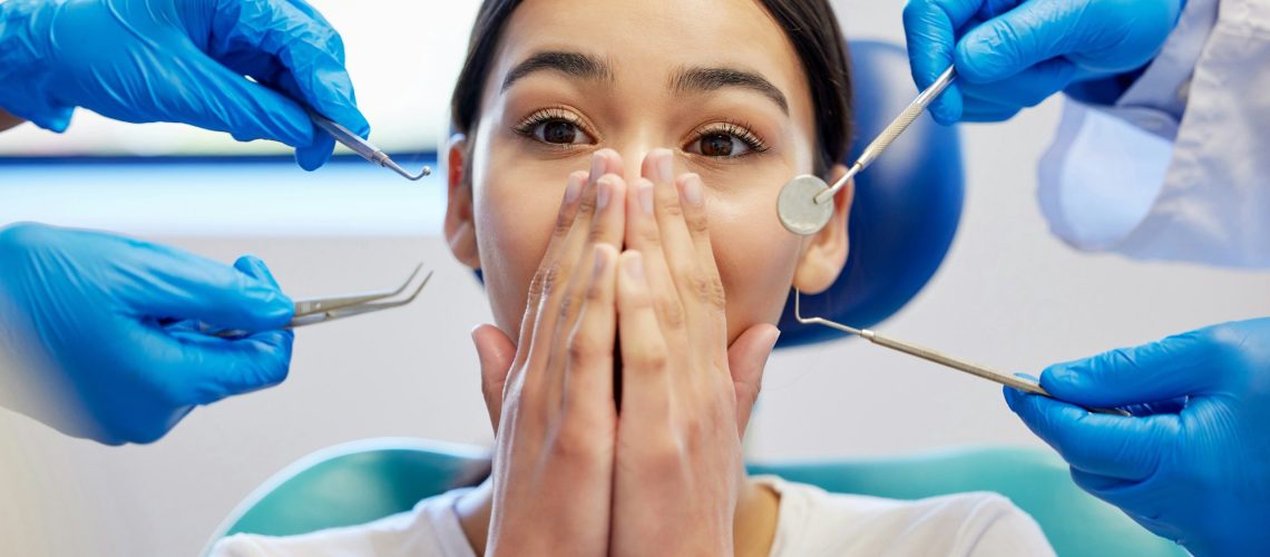
<svg viewBox="0 0 1270 557">
<path fill-rule="evenodd" d="M 497 431 L 485 554 L 608 552 L 621 166 L 606 150 L 589 176 L 569 176 L 519 341 L 491 325 L 472 331 Z"/>
</svg>

